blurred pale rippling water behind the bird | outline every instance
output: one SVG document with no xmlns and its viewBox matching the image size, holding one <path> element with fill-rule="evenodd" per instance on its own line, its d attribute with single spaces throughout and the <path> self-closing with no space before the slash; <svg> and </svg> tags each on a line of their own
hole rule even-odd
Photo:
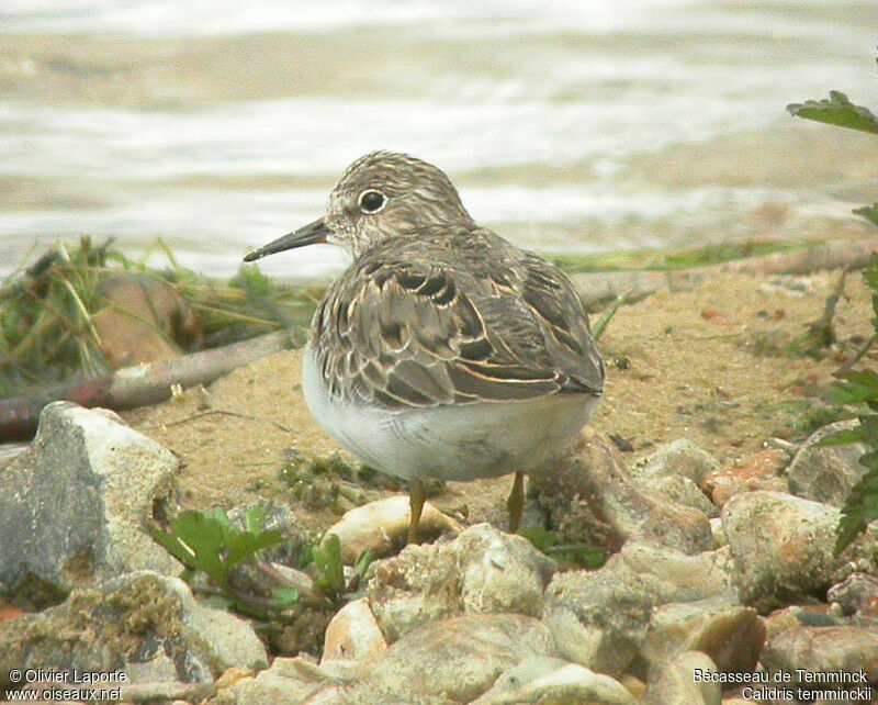
<svg viewBox="0 0 878 705">
<path fill-rule="evenodd" d="M 542 250 L 858 234 L 876 141 L 784 108 L 878 104 L 876 20 L 871 0 L 4 0 L 0 271 L 89 233 L 228 275 L 375 148 Z"/>
</svg>

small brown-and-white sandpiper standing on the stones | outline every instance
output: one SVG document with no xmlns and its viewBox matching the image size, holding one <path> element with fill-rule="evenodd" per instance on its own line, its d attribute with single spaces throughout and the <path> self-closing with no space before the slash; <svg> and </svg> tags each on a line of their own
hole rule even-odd
<svg viewBox="0 0 878 705">
<path fill-rule="evenodd" d="M 302 390 L 317 422 L 367 465 L 409 481 L 524 473 L 563 451 L 604 391 L 588 318 L 561 270 L 477 225 L 440 169 L 404 154 L 354 161 L 324 216 L 248 254 L 330 243 L 353 262 L 311 324 Z"/>
</svg>

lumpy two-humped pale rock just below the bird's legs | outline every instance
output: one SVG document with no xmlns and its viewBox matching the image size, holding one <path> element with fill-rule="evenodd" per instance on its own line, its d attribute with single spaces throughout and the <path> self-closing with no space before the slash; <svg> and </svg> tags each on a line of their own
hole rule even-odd
<svg viewBox="0 0 878 705">
<path fill-rule="evenodd" d="M 527 539 L 476 524 L 448 544 L 408 546 L 373 563 L 369 606 L 391 642 L 427 622 L 464 613 L 539 617 L 553 570 Z"/>
</svg>

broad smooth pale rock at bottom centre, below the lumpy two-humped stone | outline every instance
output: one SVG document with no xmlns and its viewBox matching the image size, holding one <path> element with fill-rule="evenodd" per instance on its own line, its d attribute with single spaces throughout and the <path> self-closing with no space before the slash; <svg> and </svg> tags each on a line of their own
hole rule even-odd
<svg viewBox="0 0 878 705">
<path fill-rule="evenodd" d="M 549 630 L 524 615 L 464 615 L 430 622 L 393 644 L 348 694 L 351 703 L 469 703 L 497 676 L 555 656 Z"/>
</svg>

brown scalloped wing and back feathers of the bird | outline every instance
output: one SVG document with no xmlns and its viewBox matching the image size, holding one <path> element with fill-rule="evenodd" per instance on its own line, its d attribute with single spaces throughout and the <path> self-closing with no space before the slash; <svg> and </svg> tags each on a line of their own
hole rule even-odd
<svg viewBox="0 0 878 705">
<path fill-rule="evenodd" d="M 603 361 L 566 277 L 489 231 L 465 235 L 472 257 L 443 256 L 446 233 L 435 256 L 429 239 L 374 251 L 330 287 L 312 334 L 331 393 L 390 410 L 600 394 Z"/>
</svg>

